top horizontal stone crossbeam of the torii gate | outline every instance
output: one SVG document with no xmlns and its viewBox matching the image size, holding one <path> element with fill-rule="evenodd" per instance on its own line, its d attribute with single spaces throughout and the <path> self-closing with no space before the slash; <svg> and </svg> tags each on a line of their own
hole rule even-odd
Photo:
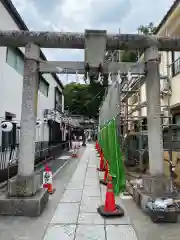
<svg viewBox="0 0 180 240">
<path fill-rule="evenodd" d="M 98 34 L 98 31 L 94 34 Z M 0 46 L 24 47 L 35 43 L 42 48 L 84 49 L 85 34 L 70 32 L 0 31 Z M 106 49 L 141 49 L 156 46 L 160 51 L 180 51 L 179 37 L 157 37 L 139 34 L 107 34 Z"/>
</svg>

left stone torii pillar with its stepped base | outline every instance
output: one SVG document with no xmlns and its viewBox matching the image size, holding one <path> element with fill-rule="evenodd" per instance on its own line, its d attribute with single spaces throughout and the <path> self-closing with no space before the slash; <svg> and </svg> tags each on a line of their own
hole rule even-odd
<svg viewBox="0 0 180 240">
<path fill-rule="evenodd" d="M 8 197 L 0 196 L 1 215 L 35 217 L 49 199 L 47 191 L 40 188 L 40 175 L 34 173 L 39 56 L 39 46 L 29 43 L 25 48 L 18 174 L 9 180 Z"/>
</svg>

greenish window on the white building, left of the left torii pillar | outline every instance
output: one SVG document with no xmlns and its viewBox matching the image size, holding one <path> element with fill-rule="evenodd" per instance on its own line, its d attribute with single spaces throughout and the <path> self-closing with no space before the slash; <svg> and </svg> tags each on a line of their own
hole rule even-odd
<svg viewBox="0 0 180 240">
<path fill-rule="evenodd" d="M 24 56 L 18 48 L 7 47 L 6 62 L 18 73 L 24 73 Z"/>
</svg>

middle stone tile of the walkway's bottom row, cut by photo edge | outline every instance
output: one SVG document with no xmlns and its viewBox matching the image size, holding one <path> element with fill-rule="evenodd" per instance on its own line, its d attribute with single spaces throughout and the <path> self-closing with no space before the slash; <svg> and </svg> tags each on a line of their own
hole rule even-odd
<svg viewBox="0 0 180 240">
<path fill-rule="evenodd" d="M 105 240 L 103 225 L 79 225 L 76 230 L 75 240 Z M 115 240 L 112 238 L 112 240 Z M 130 240 L 130 239 L 128 239 Z"/>
</svg>

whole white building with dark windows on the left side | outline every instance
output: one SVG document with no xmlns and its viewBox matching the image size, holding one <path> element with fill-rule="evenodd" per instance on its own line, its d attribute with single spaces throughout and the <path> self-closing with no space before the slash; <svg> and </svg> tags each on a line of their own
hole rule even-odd
<svg viewBox="0 0 180 240">
<path fill-rule="evenodd" d="M 10 0 L 0 1 L 0 29 L 28 30 L 26 24 Z M 40 57 L 46 60 L 41 51 Z M 20 123 L 22 87 L 24 72 L 24 49 L 13 47 L 0 48 L 0 121 L 12 120 Z M 53 115 L 51 120 L 44 121 Z M 64 112 L 63 85 L 56 74 L 43 74 L 39 77 L 37 118 L 41 123 L 37 126 L 36 142 L 49 144 L 61 141 L 60 116 Z M 55 113 L 55 114 L 52 114 Z M 17 124 L 14 124 L 17 128 Z M 0 146 L 18 143 L 19 130 L 4 133 L 0 130 Z"/>
</svg>

